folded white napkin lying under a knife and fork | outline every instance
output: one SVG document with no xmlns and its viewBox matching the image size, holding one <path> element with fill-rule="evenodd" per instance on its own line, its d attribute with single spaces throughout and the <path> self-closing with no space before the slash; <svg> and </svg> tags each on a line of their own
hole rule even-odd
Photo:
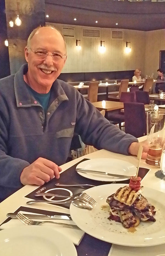
<svg viewBox="0 0 165 256">
<path fill-rule="evenodd" d="M 36 213 L 31 213 L 31 212 L 25 212 L 25 211 L 20 211 L 21 213 L 26 213 L 26 214 L 36 214 Z M 36 220 L 36 221 L 49 221 L 49 220 L 45 220 L 45 219 L 33 219 L 33 220 Z M 75 224 L 73 221 L 67 221 L 67 220 L 53 220 L 53 219 L 50 219 L 50 221 L 54 221 L 54 222 L 64 222 L 64 223 L 68 223 L 68 224 Z M 11 220 L 9 220 L 8 222 L 4 223 L 1 225 L 1 229 L 5 229 L 5 228 L 13 228 L 15 226 L 23 226 L 24 224 L 18 220 L 18 219 L 15 219 L 15 218 L 12 218 Z M 54 231 L 59 231 L 61 232 L 62 234 L 64 234 L 65 236 L 69 237 L 73 244 L 75 245 L 79 245 L 79 243 L 81 242 L 81 239 L 83 238 L 84 236 L 84 231 L 82 230 L 78 230 L 78 229 L 72 229 L 72 228 L 65 228 L 61 225 L 56 225 L 56 224 L 53 224 L 53 223 L 44 223 L 42 224 L 41 226 L 46 226 L 47 228 L 51 228 L 51 229 L 54 229 Z"/>
</svg>

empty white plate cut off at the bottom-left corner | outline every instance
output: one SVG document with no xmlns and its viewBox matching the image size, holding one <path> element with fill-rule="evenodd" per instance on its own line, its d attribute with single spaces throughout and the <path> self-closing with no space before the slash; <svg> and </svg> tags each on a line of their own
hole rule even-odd
<svg viewBox="0 0 165 256">
<path fill-rule="evenodd" d="M 5 256 L 77 256 L 76 248 L 70 239 L 43 226 L 2 230 L 0 248 L 0 254 Z"/>
</svg>

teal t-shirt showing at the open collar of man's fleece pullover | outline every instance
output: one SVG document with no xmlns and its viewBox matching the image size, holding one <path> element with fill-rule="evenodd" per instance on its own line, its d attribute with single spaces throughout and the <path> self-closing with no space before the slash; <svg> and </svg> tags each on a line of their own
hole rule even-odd
<svg viewBox="0 0 165 256">
<path fill-rule="evenodd" d="M 48 109 L 50 91 L 48 93 L 38 93 L 38 92 L 34 91 L 30 86 L 28 86 L 27 88 L 29 90 L 29 93 L 34 96 L 35 100 L 37 100 L 41 104 L 41 106 L 43 107 L 43 109 L 46 113 L 46 111 Z"/>
</svg>

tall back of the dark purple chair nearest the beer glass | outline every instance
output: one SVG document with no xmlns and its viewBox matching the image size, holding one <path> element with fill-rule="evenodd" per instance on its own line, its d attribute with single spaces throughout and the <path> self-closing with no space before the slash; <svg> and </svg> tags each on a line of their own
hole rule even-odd
<svg viewBox="0 0 165 256">
<path fill-rule="evenodd" d="M 126 133 L 136 138 L 147 134 L 147 123 L 143 103 L 124 102 L 124 117 Z"/>
</svg>

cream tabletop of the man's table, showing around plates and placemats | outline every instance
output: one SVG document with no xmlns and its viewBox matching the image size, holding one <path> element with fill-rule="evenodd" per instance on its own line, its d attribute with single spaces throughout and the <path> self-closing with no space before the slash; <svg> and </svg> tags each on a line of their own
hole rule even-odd
<svg viewBox="0 0 165 256">
<path fill-rule="evenodd" d="M 139 141 L 143 141 L 145 139 L 146 139 L 146 136 L 139 138 Z M 113 158 L 113 159 L 128 161 L 134 165 L 136 165 L 138 163 L 136 156 L 131 156 L 131 155 L 126 156 L 126 155 L 122 155 L 122 154 L 113 153 L 113 152 L 110 152 L 107 150 L 98 150 L 94 153 L 82 156 L 73 161 L 63 164 L 61 166 L 62 172 L 65 172 L 65 170 L 68 169 L 70 166 L 73 166 L 74 164 L 78 163 L 79 161 L 83 160 L 84 158 L 90 158 L 90 159 Z M 143 186 L 146 186 L 146 187 L 149 187 L 152 189 L 156 189 L 156 190 L 159 190 L 159 191 L 165 193 L 165 181 L 155 177 L 155 172 L 158 171 L 160 168 L 147 165 L 145 163 L 145 160 L 143 160 L 143 159 L 141 159 L 140 167 L 150 168 L 150 171 L 142 179 L 141 184 Z M 7 213 L 14 212 L 20 206 L 27 207 L 26 202 L 29 201 L 29 198 L 26 198 L 25 196 L 37 188 L 38 188 L 38 186 L 35 186 L 35 185 L 33 185 L 33 186 L 26 185 L 23 188 L 21 188 L 20 190 L 18 190 L 17 192 L 15 192 L 14 194 L 12 194 L 7 199 L 5 199 L 3 202 L 1 202 L 0 203 L 0 209 L 1 209 L 0 210 L 0 223 L 5 221 Z M 37 208 L 37 209 L 41 209 L 41 210 L 47 210 L 47 211 L 58 211 L 58 212 L 61 211 L 61 209 L 62 209 L 63 213 L 69 213 L 69 209 L 56 207 L 54 205 L 48 205 L 48 204 L 39 204 L 38 203 L 38 204 L 35 204 L 35 207 L 32 205 L 31 206 L 29 205 L 29 207 Z M 80 243 L 80 245 L 81 245 L 81 243 Z M 158 248 L 158 246 L 154 246 L 154 247 L 155 247 L 155 249 L 156 249 L 156 247 Z M 127 246 L 120 246 L 120 245 L 112 245 L 108 256 L 110 256 L 110 255 L 111 256 L 147 255 L 147 254 L 143 254 L 143 251 L 145 251 L 147 253 L 149 248 L 150 247 L 127 247 Z M 86 255 L 88 255 L 88 252 L 86 252 Z"/>
</svg>

